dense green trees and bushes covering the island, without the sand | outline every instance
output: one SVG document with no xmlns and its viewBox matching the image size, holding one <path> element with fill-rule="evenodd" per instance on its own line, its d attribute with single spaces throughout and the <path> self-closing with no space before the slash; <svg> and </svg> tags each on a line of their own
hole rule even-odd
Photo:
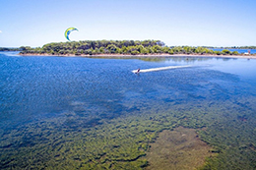
<svg viewBox="0 0 256 170">
<path fill-rule="evenodd" d="M 47 43 L 42 47 L 21 47 L 21 54 L 40 55 L 154 55 L 154 54 L 211 54 L 237 55 L 237 51 L 214 51 L 206 47 L 166 46 L 160 40 L 84 40 Z"/>
</svg>

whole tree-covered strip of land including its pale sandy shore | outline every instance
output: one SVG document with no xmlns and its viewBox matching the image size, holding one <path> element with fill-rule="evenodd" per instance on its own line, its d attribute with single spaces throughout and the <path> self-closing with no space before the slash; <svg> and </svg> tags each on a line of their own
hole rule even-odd
<svg viewBox="0 0 256 170">
<path fill-rule="evenodd" d="M 253 47 L 251 47 L 253 48 Z M 81 56 L 102 58 L 138 57 L 228 57 L 252 58 L 256 54 L 223 49 L 214 50 L 204 46 L 166 46 L 160 40 L 83 40 L 51 42 L 42 47 L 20 47 L 23 55 Z"/>
</svg>

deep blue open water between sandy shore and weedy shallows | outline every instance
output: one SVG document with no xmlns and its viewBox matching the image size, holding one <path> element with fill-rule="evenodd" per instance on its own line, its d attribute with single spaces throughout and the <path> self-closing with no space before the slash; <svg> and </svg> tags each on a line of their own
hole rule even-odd
<svg viewBox="0 0 256 170">
<path fill-rule="evenodd" d="M 140 75 L 131 72 L 180 65 L 193 67 Z M 8 152 L 6 148 L 19 142 L 7 139 L 7 133 L 19 134 L 23 126 L 55 118 L 64 120 L 56 123 L 58 131 L 72 129 L 79 120 L 90 128 L 102 119 L 166 112 L 178 105 L 184 110 L 209 107 L 213 102 L 237 105 L 241 98 L 249 98 L 242 108 L 244 114 L 255 113 L 255 66 L 256 60 L 245 59 L 145 61 L 0 53 L 0 148 Z M 67 121 L 69 115 L 76 117 Z"/>
</svg>

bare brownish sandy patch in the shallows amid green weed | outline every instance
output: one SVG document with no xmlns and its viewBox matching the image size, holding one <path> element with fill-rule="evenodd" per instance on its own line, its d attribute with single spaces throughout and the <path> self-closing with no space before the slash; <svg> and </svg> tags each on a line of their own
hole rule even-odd
<svg viewBox="0 0 256 170">
<path fill-rule="evenodd" d="M 194 129 L 178 127 L 174 131 L 164 130 L 156 142 L 151 143 L 147 153 L 150 169 L 195 169 L 214 156 L 212 147 L 202 142 Z"/>
</svg>

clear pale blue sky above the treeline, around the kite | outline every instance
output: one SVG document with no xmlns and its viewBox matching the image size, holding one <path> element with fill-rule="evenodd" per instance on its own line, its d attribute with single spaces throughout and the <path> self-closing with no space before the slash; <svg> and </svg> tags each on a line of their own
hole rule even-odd
<svg viewBox="0 0 256 170">
<path fill-rule="evenodd" d="M 256 0 L 0 0 L 0 47 L 71 40 L 256 45 Z"/>
</svg>

